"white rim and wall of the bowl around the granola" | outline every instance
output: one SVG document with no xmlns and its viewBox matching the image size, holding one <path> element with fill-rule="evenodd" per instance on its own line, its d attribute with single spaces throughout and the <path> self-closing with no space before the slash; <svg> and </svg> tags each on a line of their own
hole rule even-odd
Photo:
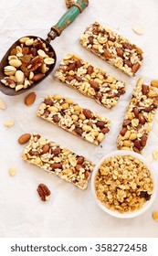
<svg viewBox="0 0 158 256">
<path fill-rule="evenodd" d="M 104 204 L 102 204 L 100 202 L 100 200 L 97 198 L 96 195 L 96 188 L 95 188 L 95 180 L 96 180 L 96 175 L 99 171 L 100 165 L 103 164 L 104 160 L 107 158 L 110 158 L 112 156 L 116 156 L 116 155 L 132 155 L 133 157 L 138 158 L 140 161 L 142 161 L 142 163 L 148 168 L 148 170 L 151 173 L 151 176 L 153 178 L 153 194 L 150 198 L 149 201 L 146 201 L 141 209 L 135 210 L 133 212 L 127 212 L 127 213 L 123 213 L 121 214 L 118 211 L 114 211 L 111 210 L 110 208 L 107 208 Z M 91 176 L 91 189 L 92 189 L 92 193 L 94 195 L 94 198 L 97 202 L 97 204 L 99 205 L 99 207 L 105 211 L 106 213 L 110 214 L 111 216 L 117 217 L 117 218 L 122 218 L 122 219 L 127 219 L 127 218 L 133 218 L 133 217 L 137 217 L 139 215 L 141 215 L 142 213 L 144 213 L 148 208 L 151 207 L 151 205 L 153 204 L 153 200 L 156 197 L 156 192 L 157 192 L 157 177 L 155 176 L 155 173 L 153 171 L 153 167 L 150 165 L 150 163 L 140 154 L 134 153 L 132 151 L 127 151 L 127 150 L 117 150 L 117 151 L 113 151 L 108 155 L 103 156 L 100 159 L 100 162 L 95 166 L 92 176 Z"/>
</svg>

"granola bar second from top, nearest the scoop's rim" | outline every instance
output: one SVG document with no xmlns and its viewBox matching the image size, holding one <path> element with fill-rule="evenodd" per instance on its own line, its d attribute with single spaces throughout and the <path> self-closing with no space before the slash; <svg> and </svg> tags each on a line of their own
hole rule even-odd
<svg viewBox="0 0 158 256">
<path fill-rule="evenodd" d="M 55 79 L 108 109 L 117 104 L 126 87 L 123 81 L 116 80 L 72 53 L 68 53 L 62 60 L 55 73 Z"/>
</svg>

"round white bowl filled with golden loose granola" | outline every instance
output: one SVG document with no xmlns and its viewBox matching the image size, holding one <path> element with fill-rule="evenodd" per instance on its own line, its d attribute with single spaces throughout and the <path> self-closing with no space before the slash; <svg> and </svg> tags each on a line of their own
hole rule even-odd
<svg viewBox="0 0 158 256">
<path fill-rule="evenodd" d="M 132 218 L 152 205 L 155 176 L 142 155 L 116 151 L 96 165 L 92 190 L 104 211 L 115 217 Z"/>
</svg>

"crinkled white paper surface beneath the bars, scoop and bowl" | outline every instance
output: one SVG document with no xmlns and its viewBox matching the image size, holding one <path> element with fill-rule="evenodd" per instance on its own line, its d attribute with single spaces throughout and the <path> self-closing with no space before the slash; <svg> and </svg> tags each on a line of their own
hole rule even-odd
<svg viewBox="0 0 158 256">
<path fill-rule="evenodd" d="M 66 10 L 64 0 L 10 0 L 7 5 L 5 0 L 0 0 L 0 59 L 19 37 L 37 35 L 46 38 L 49 27 L 55 25 Z M 136 219 L 112 218 L 95 204 L 90 186 L 86 191 L 80 191 L 57 176 L 48 175 L 34 165 L 27 165 L 20 158 L 25 145 L 17 144 L 17 138 L 22 133 L 37 132 L 95 163 L 101 156 L 115 150 L 117 134 L 136 80 L 140 76 L 145 76 L 147 81 L 158 79 L 157 13 L 156 0 L 90 0 L 89 8 L 52 42 L 58 63 L 66 52 L 72 51 L 127 82 L 127 92 L 112 111 L 55 81 L 53 73 L 35 89 L 37 101 L 31 107 L 24 104 L 27 92 L 16 97 L 0 92 L 0 98 L 8 106 L 7 110 L 0 110 L 0 237 L 158 237 L 158 223 L 152 218 L 153 210 L 158 210 L 158 200 Z M 134 80 L 79 45 L 80 34 L 95 20 L 128 37 L 144 50 L 144 64 Z M 142 36 L 132 31 L 136 25 L 144 28 Z M 47 94 L 53 93 L 71 97 L 81 106 L 111 119 L 111 133 L 107 135 L 102 148 L 37 118 L 40 102 Z M 15 125 L 6 128 L 4 123 L 11 119 L 15 119 Z M 158 114 L 143 155 L 158 148 L 157 127 Z M 154 161 L 155 172 L 158 172 L 157 165 L 158 162 Z M 16 176 L 9 176 L 8 168 L 11 166 L 16 167 Z M 37 195 L 37 186 L 41 182 L 52 192 L 47 203 L 40 201 Z"/>
</svg>

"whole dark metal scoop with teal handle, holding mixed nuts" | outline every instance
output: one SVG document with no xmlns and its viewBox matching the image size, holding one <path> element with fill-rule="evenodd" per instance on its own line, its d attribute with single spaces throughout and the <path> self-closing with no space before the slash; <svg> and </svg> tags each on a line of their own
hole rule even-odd
<svg viewBox="0 0 158 256">
<path fill-rule="evenodd" d="M 23 44 L 23 49 L 24 49 L 24 47 L 26 47 L 29 49 L 29 51 L 31 51 L 31 54 L 30 54 L 30 52 L 28 52 L 25 56 L 25 61 L 27 61 L 27 62 L 23 63 L 23 61 L 21 61 L 25 55 L 23 53 L 21 53 L 21 55 L 20 55 L 20 52 L 19 52 L 19 54 L 17 54 L 19 56 L 18 58 L 16 57 L 16 55 L 15 55 L 15 57 L 13 57 L 14 49 L 17 47 L 20 48 L 20 46 L 21 46 L 21 43 L 20 43 L 21 38 L 18 39 L 11 46 L 11 48 L 9 48 L 6 51 L 4 58 L 1 60 L 1 63 L 0 63 L 0 91 L 5 93 L 6 95 L 10 95 L 10 96 L 16 96 L 21 93 L 24 93 L 29 89 L 33 89 L 40 81 L 47 78 L 47 76 L 50 74 L 50 72 L 54 69 L 54 67 L 56 65 L 57 56 L 56 56 L 56 52 L 55 52 L 54 48 L 52 48 L 52 46 L 50 45 L 50 41 L 54 40 L 56 37 L 59 37 L 61 35 L 62 31 L 66 27 L 68 27 L 76 19 L 76 17 L 79 16 L 79 14 L 89 5 L 89 0 L 78 0 L 77 2 L 74 2 L 71 0 L 66 0 L 66 5 L 69 8 L 68 12 L 66 14 L 64 14 L 64 16 L 62 16 L 59 19 L 58 23 L 55 26 L 51 27 L 50 32 L 47 34 L 46 40 L 41 37 L 25 36 L 30 39 L 33 39 L 34 41 L 40 42 L 38 44 L 37 48 L 35 48 L 34 45 L 26 46 L 25 43 Z M 24 37 L 22 37 L 22 38 L 24 38 Z M 33 49 L 33 48 L 35 48 L 35 49 Z M 47 49 L 47 51 L 46 51 L 46 49 Z M 34 57 L 32 54 L 34 54 Z M 40 69 L 41 69 L 42 64 L 39 62 L 40 61 L 42 62 L 44 60 L 44 59 L 42 60 L 42 55 L 44 55 L 44 54 L 46 54 L 47 58 L 54 59 L 54 63 L 50 63 L 50 64 L 48 63 L 47 65 L 44 64 L 47 71 L 41 72 Z M 15 67 L 15 65 L 16 65 L 15 64 L 15 65 L 13 65 L 13 68 L 10 68 L 11 69 L 10 72 L 9 72 L 9 70 L 6 72 L 5 68 L 7 68 L 8 66 L 9 67 L 12 66 L 10 64 L 11 59 L 10 60 L 8 59 L 8 58 L 10 58 L 10 56 L 12 56 L 12 61 L 11 61 L 12 63 L 15 62 L 15 61 L 13 61 L 14 58 L 19 59 L 19 60 L 21 59 L 20 61 L 22 62 L 23 66 L 21 65 L 19 67 Z M 29 60 L 30 60 L 30 62 L 29 62 Z M 46 60 L 44 60 L 44 61 L 46 61 Z M 18 62 L 18 61 L 16 61 L 16 62 Z M 32 67 L 33 62 L 34 62 L 34 67 Z M 37 66 L 35 67 L 35 63 L 36 64 L 38 63 L 38 68 L 37 68 Z M 13 69 L 13 71 L 12 71 L 12 69 Z M 16 75 L 14 74 L 14 70 L 18 71 L 18 72 L 15 71 Z M 25 84 L 22 89 L 16 90 L 15 87 L 18 84 L 16 81 L 17 75 L 18 75 L 18 77 L 21 76 L 20 77 L 21 80 L 24 81 L 26 79 L 29 81 L 29 79 L 26 78 L 26 74 L 25 74 L 24 70 L 26 71 L 26 74 L 28 75 L 28 77 L 30 76 L 30 72 L 32 71 L 31 74 L 34 75 L 34 79 L 31 80 L 31 84 L 28 84 L 28 86 Z M 43 73 L 43 75 L 42 75 L 42 73 Z M 40 75 L 38 75 L 38 74 L 40 74 Z M 15 77 L 14 80 L 13 80 L 13 77 Z M 5 82 L 4 82 L 4 80 L 5 80 Z M 19 85 L 19 88 L 20 88 L 20 85 Z"/>
</svg>

